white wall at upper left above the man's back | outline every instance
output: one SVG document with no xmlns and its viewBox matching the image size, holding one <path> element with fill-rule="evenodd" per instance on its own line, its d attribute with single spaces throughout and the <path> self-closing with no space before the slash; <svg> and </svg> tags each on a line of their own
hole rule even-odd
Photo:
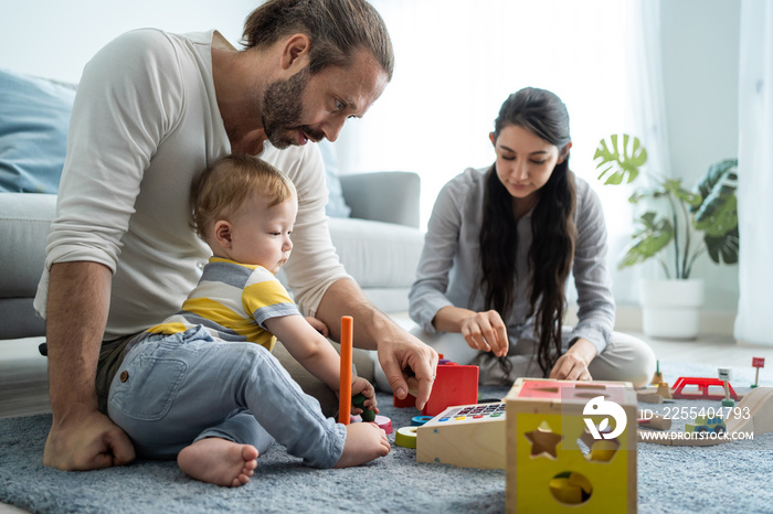
<svg viewBox="0 0 773 514">
<path fill-rule="evenodd" d="M 88 60 L 118 34 L 218 29 L 237 44 L 257 0 L 0 0 L 0 67 L 78 82 Z"/>
</svg>

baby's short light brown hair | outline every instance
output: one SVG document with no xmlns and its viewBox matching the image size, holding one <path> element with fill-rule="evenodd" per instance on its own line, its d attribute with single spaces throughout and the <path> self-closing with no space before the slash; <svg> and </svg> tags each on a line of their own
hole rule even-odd
<svg viewBox="0 0 773 514">
<path fill-rule="evenodd" d="M 266 161 L 246 153 L 233 153 L 204 171 L 191 188 L 191 227 L 202 239 L 218 221 L 237 212 L 254 193 L 274 206 L 296 197 L 289 178 Z"/>
</svg>

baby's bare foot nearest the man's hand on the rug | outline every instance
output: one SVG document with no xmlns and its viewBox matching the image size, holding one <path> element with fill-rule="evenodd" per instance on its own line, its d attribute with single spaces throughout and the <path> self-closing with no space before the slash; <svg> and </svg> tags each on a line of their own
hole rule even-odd
<svg viewBox="0 0 773 514">
<path fill-rule="evenodd" d="M 257 467 L 257 449 L 227 439 L 210 437 L 186 447 L 177 456 L 177 464 L 189 476 L 226 488 L 250 482 Z"/>
</svg>

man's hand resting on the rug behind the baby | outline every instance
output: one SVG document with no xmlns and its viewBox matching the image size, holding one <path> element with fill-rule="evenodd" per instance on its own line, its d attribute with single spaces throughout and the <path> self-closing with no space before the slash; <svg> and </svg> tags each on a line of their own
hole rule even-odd
<svg viewBox="0 0 773 514">
<path fill-rule="evenodd" d="M 54 422 L 43 450 L 43 464 L 64 471 L 125 465 L 134 460 L 128 436 L 98 410 L 76 420 Z"/>
</svg>

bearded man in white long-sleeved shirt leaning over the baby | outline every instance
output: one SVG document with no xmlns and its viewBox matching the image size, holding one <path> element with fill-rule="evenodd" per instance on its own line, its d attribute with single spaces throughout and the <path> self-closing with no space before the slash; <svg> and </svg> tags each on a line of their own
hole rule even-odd
<svg viewBox="0 0 773 514">
<path fill-rule="evenodd" d="M 378 351 L 395 394 L 417 389 L 419 408 L 430 396 L 437 354 L 372 307 L 336 257 L 314 144 L 335 141 L 391 79 L 383 20 L 364 0 L 269 0 L 247 17 L 242 43 L 215 30 L 137 30 L 84 69 L 35 299 L 50 361 L 46 465 L 134 460 L 104 414 L 108 387 L 126 342 L 176 312 L 198 282 L 210 251 L 189 226 L 191 184 L 230 153 L 260 156 L 296 185 L 286 271 L 301 311 L 332 339 L 340 317 L 353 315 L 354 345 Z"/>
</svg>

